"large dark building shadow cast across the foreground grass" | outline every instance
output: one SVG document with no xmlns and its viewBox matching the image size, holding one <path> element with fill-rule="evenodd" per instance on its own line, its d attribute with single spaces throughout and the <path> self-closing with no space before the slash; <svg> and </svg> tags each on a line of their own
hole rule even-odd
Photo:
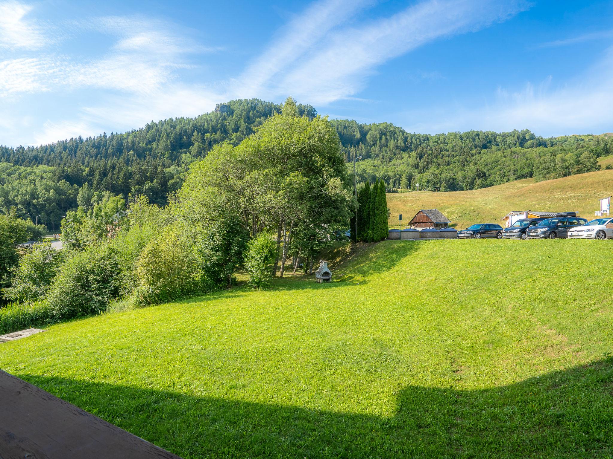
<svg viewBox="0 0 613 459">
<path fill-rule="evenodd" d="M 389 417 L 17 376 L 185 458 L 613 453 L 612 359 L 492 389 L 405 387 Z"/>
</svg>

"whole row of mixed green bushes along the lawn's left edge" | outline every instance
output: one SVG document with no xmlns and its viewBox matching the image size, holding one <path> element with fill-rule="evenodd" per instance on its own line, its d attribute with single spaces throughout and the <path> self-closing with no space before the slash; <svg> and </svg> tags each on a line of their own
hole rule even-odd
<svg viewBox="0 0 613 459">
<path fill-rule="evenodd" d="M 129 228 L 85 248 L 32 247 L 13 270 L 0 309 L 1 330 L 55 323 L 104 312 L 110 302 L 142 307 L 226 286 L 237 266 L 250 284 L 267 285 L 276 253 L 271 234 L 249 234 L 231 220 L 182 226 L 167 209 L 135 203 Z"/>
</svg>

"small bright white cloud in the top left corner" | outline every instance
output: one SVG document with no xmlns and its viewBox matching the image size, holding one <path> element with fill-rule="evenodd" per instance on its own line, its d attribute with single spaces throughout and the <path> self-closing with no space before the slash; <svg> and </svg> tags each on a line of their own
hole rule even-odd
<svg viewBox="0 0 613 459">
<path fill-rule="evenodd" d="M 31 10 L 17 1 L 0 2 L 0 48 L 36 50 L 48 43 L 36 22 L 26 18 Z"/>
</svg>

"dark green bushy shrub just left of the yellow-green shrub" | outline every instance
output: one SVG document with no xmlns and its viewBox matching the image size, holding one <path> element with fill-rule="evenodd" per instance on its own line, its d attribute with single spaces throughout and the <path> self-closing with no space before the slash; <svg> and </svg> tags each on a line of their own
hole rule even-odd
<svg viewBox="0 0 613 459">
<path fill-rule="evenodd" d="M 121 284 L 117 252 L 109 245 L 92 245 L 74 252 L 53 280 L 47 301 L 56 319 L 103 312 Z"/>
</svg>

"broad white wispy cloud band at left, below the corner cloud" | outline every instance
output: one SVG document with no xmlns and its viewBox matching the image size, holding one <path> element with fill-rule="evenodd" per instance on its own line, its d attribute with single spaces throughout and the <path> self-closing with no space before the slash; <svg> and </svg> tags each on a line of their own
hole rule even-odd
<svg viewBox="0 0 613 459">
<path fill-rule="evenodd" d="M 155 21 L 113 17 L 93 23 L 115 39 L 105 55 L 83 61 L 48 53 L 2 61 L 0 96 L 78 88 L 147 94 L 174 80 L 178 69 L 189 67 L 185 54 L 205 50 Z"/>
</svg>

